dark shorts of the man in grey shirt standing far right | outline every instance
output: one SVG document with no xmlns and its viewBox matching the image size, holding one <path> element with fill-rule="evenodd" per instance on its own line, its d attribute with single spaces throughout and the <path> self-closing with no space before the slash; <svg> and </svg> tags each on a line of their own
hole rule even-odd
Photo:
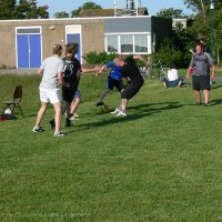
<svg viewBox="0 0 222 222">
<path fill-rule="evenodd" d="M 200 91 L 200 90 L 211 90 L 210 84 L 210 75 L 193 75 L 193 90 Z"/>
</svg>

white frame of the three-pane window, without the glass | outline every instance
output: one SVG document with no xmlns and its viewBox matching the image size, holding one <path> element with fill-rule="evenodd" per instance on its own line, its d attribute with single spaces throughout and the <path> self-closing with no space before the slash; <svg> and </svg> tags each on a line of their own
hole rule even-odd
<svg viewBox="0 0 222 222">
<path fill-rule="evenodd" d="M 105 52 L 108 52 L 108 37 L 109 36 L 118 36 L 118 52 L 119 54 L 129 54 L 129 53 L 133 53 L 133 54 L 151 54 L 152 53 L 152 37 L 151 37 L 151 32 L 117 32 L 117 33 L 104 33 L 104 47 L 105 47 Z M 120 42 L 120 38 L 121 36 L 133 36 L 133 52 L 128 52 L 128 53 L 123 53 L 121 52 L 121 42 Z M 148 52 L 135 52 L 135 36 L 148 36 Z M 111 52 L 108 52 L 111 53 Z"/>
</svg>

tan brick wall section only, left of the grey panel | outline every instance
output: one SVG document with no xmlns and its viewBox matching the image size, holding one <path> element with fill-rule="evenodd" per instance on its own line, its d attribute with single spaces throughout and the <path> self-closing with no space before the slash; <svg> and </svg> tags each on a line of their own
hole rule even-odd
<svg viewBox="0 0 222 222">
<path fill-rule="evenodd" d="M 65 46 L 65 26 L 82 27 L 82 53 L 104 50 L 104 24 L 102 19 L 58 19 L 0 21 L 0 67 L 17 65 L 16 27 L 42 28 L 42 58 L 51 54 L 54 43 Z M 53 29 L 52 29 L 53 27 Z"/>
</svg>

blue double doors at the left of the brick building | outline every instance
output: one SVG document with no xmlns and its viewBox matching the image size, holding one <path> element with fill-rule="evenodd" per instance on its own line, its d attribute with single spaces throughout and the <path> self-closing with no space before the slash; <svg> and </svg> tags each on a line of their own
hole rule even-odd
<svg viewBox="0 0 222 222">
<path fill-rule="evenodd" d="M 18 68 L 39 68 L 41 65 L 41 36 L 17 36 Z"/>
</svg>

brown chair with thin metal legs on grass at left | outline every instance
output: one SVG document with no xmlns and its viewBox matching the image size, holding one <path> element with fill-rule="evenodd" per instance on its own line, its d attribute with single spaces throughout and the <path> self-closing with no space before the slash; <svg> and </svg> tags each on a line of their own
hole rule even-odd
<svg viewBox="0 0 222 222">
<path fill-rule="evenodd" d="M 2 115 L 4 114 L 4 111 L 7 109 L 10 109 L 11 110 L 11 114 L 13 113 L 14 109 L 16 108 L 19 108 L 22 117 L 24 118 L 23 115 L 23 112 L 21 110 L 21 107 L 20 107 L 20 102 L 21 102 L 21 97 L 22 97 L 22 85 L 17 85 L 14 88 L 14 91 L 13 91 L 13 99 L 12 100 L 8 100 L 8 101 L 2 101 L 1 104 L 4 104 L 4 109 L 3 109 L 3 112 L 2 112 Z"/>
</svg>

